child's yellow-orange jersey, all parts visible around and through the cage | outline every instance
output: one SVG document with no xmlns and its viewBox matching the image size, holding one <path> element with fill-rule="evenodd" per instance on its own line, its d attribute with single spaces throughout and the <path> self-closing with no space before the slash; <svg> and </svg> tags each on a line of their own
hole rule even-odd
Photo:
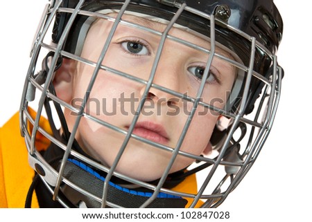
<svg viewBox="0 0 312 222">
<path fill-rule="evenodd" d="M 29 110 L 29 112 L 35 119 L 36 113 L 33 110 Z M 40 126 L 51 133 L 49 122 L 45 118 L 40 119 Z M 31 131 L 32 129 L 28 130 Z M 36 148 L 41 150 L 46 149 L 48 146 L 49 140 L 42 134 L 37 133 Z M 24 138 L 21 137 L 19 131 L 19 113 L 16 113 L 0 128 L 0 207 L 24 207 L 33 176 L 34 171 L 28 165 L 28 154 Z M 189 176 L 173 190 L 196 194 L 196 176 Z M 188 198 L 188 201 L 187 207 L 192 203 L 190 198 Z M 32 207 L 39 207 L 35 192 L 33 193 Z"/>
</svg>

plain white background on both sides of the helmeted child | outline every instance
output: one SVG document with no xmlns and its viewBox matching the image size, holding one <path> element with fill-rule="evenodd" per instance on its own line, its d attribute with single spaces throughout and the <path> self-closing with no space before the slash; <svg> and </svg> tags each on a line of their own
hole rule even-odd
<svg viewBox="0 0 312 222">
<path fill-rule="evenodd" d="M 29 51 L 44 0 L 1 1 L 0 126 L 19 109 Z M 231 221 L 311 220 L 311 3 L 275 0 L 284 19 L 284 67 L 275 125 L 254 167 L 222 209 Z M 310 214 L 310 215 L 309 215 Z"/>
</svg>

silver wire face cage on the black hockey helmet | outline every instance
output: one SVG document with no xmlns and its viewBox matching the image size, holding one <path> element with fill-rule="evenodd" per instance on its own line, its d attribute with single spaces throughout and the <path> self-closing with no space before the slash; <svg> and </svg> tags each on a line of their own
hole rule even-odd
<svg viewBox="0 0 312 222">
<path fill-rule="evenodd" d="M 72 2 L 46 6 L 21 100 L 29 163 L 53 200 L 218 207 L 270 133 L 275 50 L 230 26 L 224 4 Z"/>
</svg>

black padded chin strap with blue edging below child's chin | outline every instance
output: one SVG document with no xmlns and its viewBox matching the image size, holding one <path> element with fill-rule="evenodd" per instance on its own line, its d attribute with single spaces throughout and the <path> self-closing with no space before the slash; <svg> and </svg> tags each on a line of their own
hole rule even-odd
<svg viewBox="0 0 312 222">
<path fill-rule="evenodd" d="M 78 187 L 81 187 L 90 194 L 102 198 L 103 184 L 105 178 L 78 160 L 67 160 L 64 169 L 64 178 L 67 178 Z M 78 192 L 73 187 L 63 184 L 60 189 L 64 196 L 66 196 L 73 205 L 76 207 L 101 207 L 101 203 L 94 198 Z M 117 185 L 116 183 L 109 182 L 107 192 L 107 202 L 121 207 L 140 207 L 145 201 L 152 196 L 152 192 L 144 192 L 139 189 L 128 189 Z M 185 207 L 187 200 L 180 196 L 173 196 L 160 192 L 148 207 L 161 208 L 161 207 Z M 107 206 L 109 207 L 109 206 Z"/>
</svg>

